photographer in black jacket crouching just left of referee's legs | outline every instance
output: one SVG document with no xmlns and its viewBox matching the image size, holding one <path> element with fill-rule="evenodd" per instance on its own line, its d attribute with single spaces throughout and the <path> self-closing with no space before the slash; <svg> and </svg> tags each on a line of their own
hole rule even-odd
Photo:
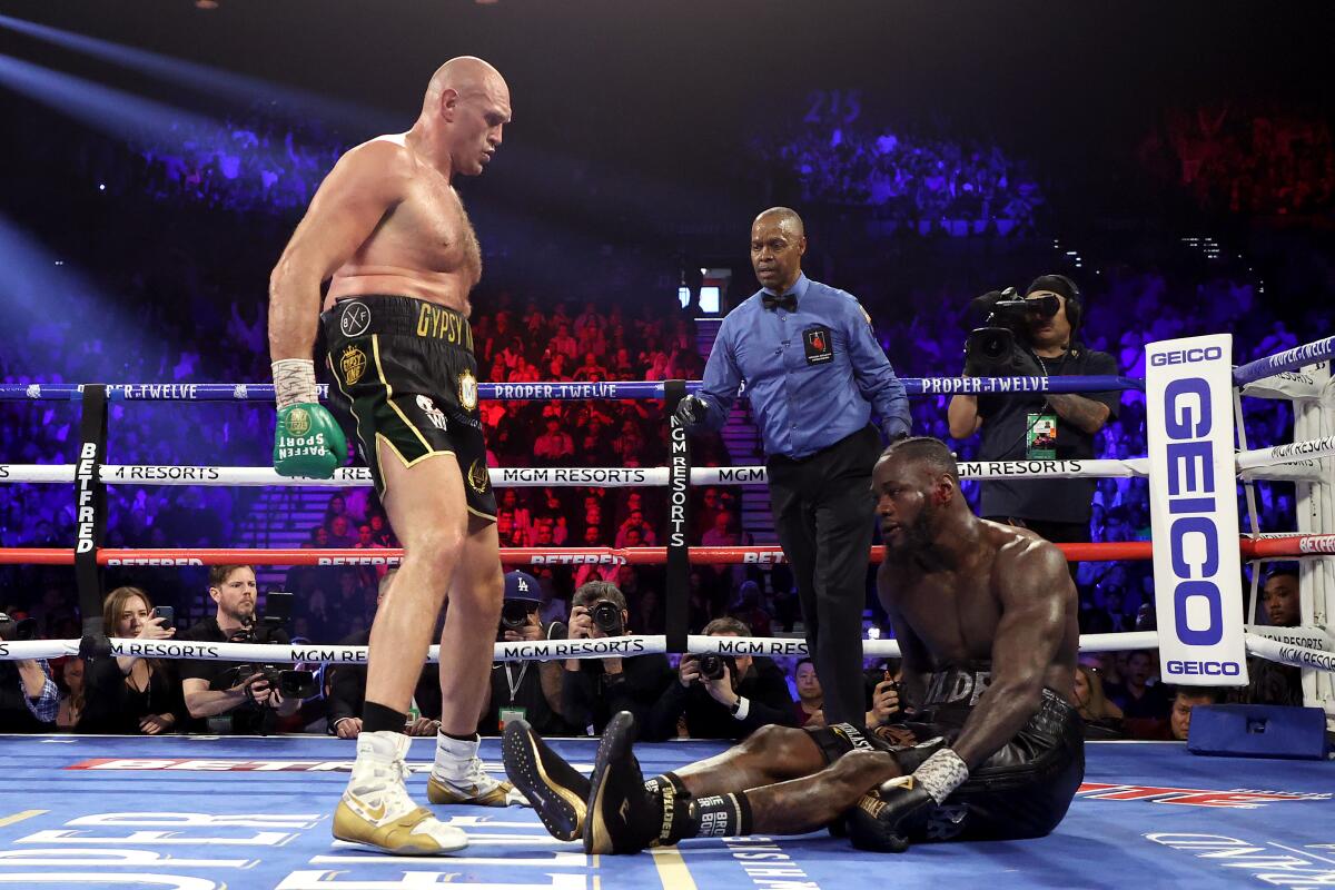
<svg viewBox="0 0 1335 890">
<path fill-rule="evenodd" d="M 750 636 L 750 628 L 736 618 L 716 618 L 705 624 L 705 636 Z M 784 671 L 750 655 L 682 655 L 677 682 L 649 714 L 645 739 L 677 735 L 682 715 L 693 739 L 738 742 L 770 723 L 796 725 Z"/>
</svg>

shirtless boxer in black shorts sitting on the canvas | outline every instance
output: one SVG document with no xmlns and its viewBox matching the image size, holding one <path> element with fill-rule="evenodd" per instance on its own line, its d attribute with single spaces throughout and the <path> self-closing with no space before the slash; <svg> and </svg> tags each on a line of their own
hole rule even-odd
<svg viewBox="0 0 1335 890">
<path fill-rule="evenodd" d="M 848 830 L 854 846 L 1041 837 L 1084 777 L 1071 707 L 1079 630 L 1065 558 L 1032 531 L 975 516 L 937 439 L 894 443 L 872 476 L 885 540 L 877 591 L 904 658 L 904 723 L 765 727 L 649 779 L 634 719 L 602 735 L 591 779 L 530 727 L 506 726 L 506 773 L 543 825 L 589 853 L 692 837 Z"/>
</svg>

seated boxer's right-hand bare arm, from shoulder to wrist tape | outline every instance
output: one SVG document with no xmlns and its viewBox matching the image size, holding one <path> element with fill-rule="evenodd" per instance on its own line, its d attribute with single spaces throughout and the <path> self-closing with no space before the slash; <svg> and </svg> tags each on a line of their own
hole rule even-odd
<svg viewBox="0 0 1335 890">
<path fill-rule="evenodd" d="M 1065 556 L 1045 540 L 1007 554 L 993 579 L 1001 619 L 992 639 L 992 685 L 951 746 L 971 770 L 1037 713 L 1044 682 L 1067 642 L 1076 599 Z"/>
</svg>

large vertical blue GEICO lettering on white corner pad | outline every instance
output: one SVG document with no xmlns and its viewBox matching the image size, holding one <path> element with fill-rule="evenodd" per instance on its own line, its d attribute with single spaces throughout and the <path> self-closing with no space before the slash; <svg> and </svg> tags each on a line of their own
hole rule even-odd
<svg viewBox="0 0 1335 890">
<path fill-rule="evenodd" d="M 1177 639 L 1188 646 L 1214 646 L 1224 635 L 1223 596 L 1215 582 L 1220 540 L 1212 515 L 1218 496 L 1214 443 L 1210 440 L 1214 415 L 1210 383 L 1204 378 L 1173 380 L 1164 390 L 1168 514 L 1172 516 L 1168 548 L 1176 579 L 1172 600 Z M 1188 606 L 1193 606 L 1189 612 Z M 1188 614 L 1196 619 L 1195 626 L 1188 623 Z"/>
</svg>

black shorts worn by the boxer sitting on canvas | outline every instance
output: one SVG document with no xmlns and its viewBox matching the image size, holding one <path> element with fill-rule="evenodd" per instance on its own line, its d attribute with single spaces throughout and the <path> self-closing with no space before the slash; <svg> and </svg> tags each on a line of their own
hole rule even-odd
<svg viewBox="0 0 1335 890">
<path fill-rule="evenodd" d="M 992 679 L 987 664 L 949 669 L 928 679 L 926 703 L 913 721 L 849 733 L 848 725 L 808 730 L 829 762 L 852 750 L 889 751 L 912 773 L 952 743 Z M 856 735 L 854 735 L 856 734 Z M 838 739 L 846 738 L 848 743 Z M 939 739 L 933 745 L 928 745 Z M 1084 723 L 1057 693 L 1044 689 L 1039 710 L 1016 735 L 969 773 L 941 806 L 909 826 L 909 839 L 1015 841 L 1049 834 L 1084 781 Z"/>
</svg>

